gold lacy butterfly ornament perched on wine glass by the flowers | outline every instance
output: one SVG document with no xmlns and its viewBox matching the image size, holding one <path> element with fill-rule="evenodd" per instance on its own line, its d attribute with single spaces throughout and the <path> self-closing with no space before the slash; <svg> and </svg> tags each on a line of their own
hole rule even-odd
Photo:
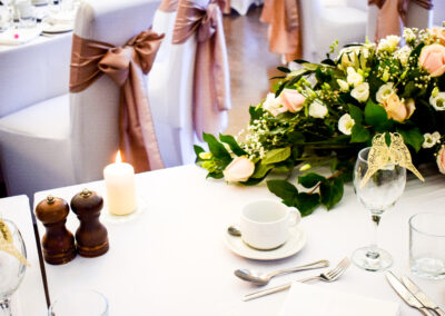
<svg viewBox="0 0 445 316">
<path fill-rule="evenodd" d="M 398 132 L 389 132 L 389 146 L 386 145 L 385 134 L 378 134 L 373 138 L 373 146 L 368 154 L 368 170 L 360 182 L 360 188 L 366 185 L 377 170 L 383 169 L 386 165 L 398 165 L 411 170 L 417 178 L 425 181 L 421 172 L 414 167 L 403 137 Z"/>
</svg>

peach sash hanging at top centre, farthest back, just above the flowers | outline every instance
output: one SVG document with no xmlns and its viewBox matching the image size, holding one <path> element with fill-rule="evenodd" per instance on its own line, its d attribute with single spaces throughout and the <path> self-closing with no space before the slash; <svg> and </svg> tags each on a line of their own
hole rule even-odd
<svg viewBox="0 0 445 316">
<path fill-rule="evenodd" d="M 298 0 L 265 0 L 261 18 L 269 24 L 269 50 L 286 61 L 301 57 L 301 23 Z"/>
</svg>

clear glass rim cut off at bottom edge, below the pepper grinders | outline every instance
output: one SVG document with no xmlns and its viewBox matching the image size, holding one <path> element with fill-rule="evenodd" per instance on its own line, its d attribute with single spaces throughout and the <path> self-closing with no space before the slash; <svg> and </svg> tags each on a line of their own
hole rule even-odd
<svg viewBox="0 0 445 316">
<path fill-rule="evenodd" d="M 48 316 L 108 316 L 108 299 L 99 292 L 79 289 L 58 297 Z"/>
</svg>

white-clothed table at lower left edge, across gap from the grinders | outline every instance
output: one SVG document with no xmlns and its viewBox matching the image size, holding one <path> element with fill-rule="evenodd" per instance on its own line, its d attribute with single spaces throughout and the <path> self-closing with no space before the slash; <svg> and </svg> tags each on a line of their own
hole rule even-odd
<svg viewBox="0 0 445 316">
<path fill-rule="evenodd" d="M 28 260 L 23 280 L 12 298 L 18 316 L 47 315 L 47 300 L 40 271 L 34 229 L 32 226 L 29 199 L 27 196 L 16 196 L 0 199 L 0 217 L 12 220 L 23 237 Z M 20 313 L 21 312 L 21 313 Z M 16 315 L 14 315 L 16 316 Z"/>
</svg>

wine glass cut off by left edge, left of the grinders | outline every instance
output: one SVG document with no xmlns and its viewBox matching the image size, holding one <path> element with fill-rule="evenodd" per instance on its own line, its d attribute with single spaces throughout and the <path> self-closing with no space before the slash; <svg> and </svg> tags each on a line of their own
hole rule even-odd
<svg viewBox="0 0 445 316">
<path fill-rule="evenodd" d="M 12 243 L 16 249 L 26 258 L 27 248 L 20 230 L 8 219 L 3 219 L 3 223 L 11 231 Z M 27 266 L 20 263 L 16 257 L 0 250 L 0 315 L 12 315 L 9 299 L 23 279 L 26 269 Z"/>
</svg>

